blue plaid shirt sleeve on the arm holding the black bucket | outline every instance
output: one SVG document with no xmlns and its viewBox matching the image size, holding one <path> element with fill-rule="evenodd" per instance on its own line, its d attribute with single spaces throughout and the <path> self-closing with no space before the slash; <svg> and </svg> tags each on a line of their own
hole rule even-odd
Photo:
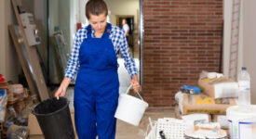
<svg viewBox="0 0 256 139">
<path fill-rule="evenodd" d="M 74 37 L 74 44 L 72 48 L 72 52 L 69 57 L 69 61 L 67 64 L 67 69 L 65 69 L 65 77 L 70 78 L 71 80 L 74 80 L 74 75 L 80 68 L 79 65 L 79 49 L 80 49 L 80 44 L 86 37 L 87 31 L 86 28 L 81 28 L 75 33 Z"/>
</svg>

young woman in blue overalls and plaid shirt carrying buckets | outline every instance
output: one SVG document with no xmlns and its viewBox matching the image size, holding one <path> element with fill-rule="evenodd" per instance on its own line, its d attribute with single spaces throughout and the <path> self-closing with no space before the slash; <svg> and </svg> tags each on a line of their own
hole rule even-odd
<svg viewBox="0 0 256 139">
<path fill-rule="evenodd" d="M 81 139 L 115 139 L 115 110 L 119 81 L 117 56 L 125 67 L 135 91 L 140 90 L 137 69 L 128 50 L 124 32 L 107 23 L 108 8 L 103 0 L 89 0 L 86 5 L 87 27 L 76 32 L 65 78 L 55 96 L 64 96 L 78 71 L 74 85 L 74 120 Z"/>
</svg>

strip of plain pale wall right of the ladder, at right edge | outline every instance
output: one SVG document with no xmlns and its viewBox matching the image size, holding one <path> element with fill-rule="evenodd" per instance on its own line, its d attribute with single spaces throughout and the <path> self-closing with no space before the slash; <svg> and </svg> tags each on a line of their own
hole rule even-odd
<svg viewBox="0 0 256 139">
<path fill-rule="evenodd" d="M 244 1 L 244 51 L 243 63 L 250 74 L 251 102 L 256 104 L 256 1 Z"/>
</svg>

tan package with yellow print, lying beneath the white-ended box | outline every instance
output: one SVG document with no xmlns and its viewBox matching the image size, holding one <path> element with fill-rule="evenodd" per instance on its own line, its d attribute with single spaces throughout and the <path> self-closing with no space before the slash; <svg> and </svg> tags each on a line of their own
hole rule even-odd
<svg viewBox="0 0 256 139">
<path fill-rule="evenodd" d="M 208 113 L 225 114 L 226 108 L 235 106 L 236 100 L 233 98 L 214 99 L 207 95 L 182 95 L 182 102 L 179 102 L 182 114 Z"/>
</svg>

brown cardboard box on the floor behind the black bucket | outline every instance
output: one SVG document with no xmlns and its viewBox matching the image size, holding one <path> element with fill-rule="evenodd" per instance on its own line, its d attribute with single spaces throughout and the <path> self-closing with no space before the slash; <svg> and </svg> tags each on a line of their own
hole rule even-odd
<svg viewBox="0 0 256 139">
<path fill-rule="evenodd" d="M 71 119 L 72 119 L 73 127 L 74 127 L 74 109 L 70 109 L 70 112 L 71 112 Z M 36 120 L 36 117 L 32 113 L 29 114 L 28 128 L 29 128 L 29 138 L 30 139 L 44 139 L 45 138 L 40 129 L 38 121 Z M 75 128 L 74 128 L 74 135 L 75 135 L 75 139 L 77 139 L 78 137 L 76 135 Z"/>
</svg>

